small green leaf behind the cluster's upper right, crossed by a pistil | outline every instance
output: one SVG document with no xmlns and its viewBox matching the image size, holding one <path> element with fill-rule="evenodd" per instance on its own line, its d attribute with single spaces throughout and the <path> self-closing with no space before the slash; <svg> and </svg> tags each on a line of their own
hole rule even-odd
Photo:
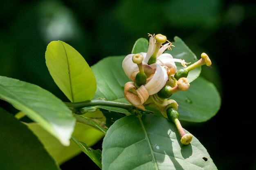
<svg viewBox="0 0 256 170">
<path fill-rule="evenodd" d="M 191 62 L 191 64 L 198 61 L 195 54 L 189 49 L 188 46 L 177 36 L 174 37 L 175 42 L 173 42 L 173 45 L 175 47 L 172 48 L 172 50 L 165 51 L 166 53 L 170 53 L 173 58 L 178 58 L 185 60 L 185 62 Z M 177 71 L 181 68 L 184 68 L 180 63 L 175 63 L 177 66 Z M 190 64 L 188 64 L 190 65 Z M 192 71 L 189 71 L 188 79 L 189 82 L 192 82 L 195 80 L 201 72 L 201 67 L 195 68 Z"/>
</svg>

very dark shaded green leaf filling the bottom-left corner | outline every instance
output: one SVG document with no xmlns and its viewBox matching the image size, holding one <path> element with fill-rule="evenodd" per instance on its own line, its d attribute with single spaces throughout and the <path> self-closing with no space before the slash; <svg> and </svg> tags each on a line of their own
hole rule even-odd
<svg viewBox="0 0 256 170">
<path fill-rule="evenodd" d="M 60 170 L 37 137 L 2 108 L 0 139 L 1 170 Z"/>
</svg>

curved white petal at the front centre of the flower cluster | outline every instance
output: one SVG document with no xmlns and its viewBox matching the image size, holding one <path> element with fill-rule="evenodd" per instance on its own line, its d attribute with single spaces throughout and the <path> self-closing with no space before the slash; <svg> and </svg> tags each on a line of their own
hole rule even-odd
<svg viewBox="0 0 256 170">
<path fill-rule="evenodd" d="M 164 87 L 168 79 L 168 75 L 166 69 L 159 64 L 151 64 L 150 66 L 153 68 L 156 67 L 156 71 L 152 79 L 150 79 L 150 81 L 144 86 L 147 89 L 148 94 L 153 95 Z"/>
</svg>

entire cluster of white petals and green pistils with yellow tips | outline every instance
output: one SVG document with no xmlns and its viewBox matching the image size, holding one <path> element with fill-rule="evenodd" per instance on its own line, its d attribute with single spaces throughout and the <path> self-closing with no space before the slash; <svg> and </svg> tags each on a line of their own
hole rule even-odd
<svg viewBox="0 0 256 170">
<path fill-rule="evenodd" d="M 124 72 L 131 82 L 124 86 L 124 96 L 135 107 L 144 110 L 144 106 L 158 108 L 159 111 L 173 121 L 182 137 L 182 144 L 189 144 L 191 134 L 186 134 L 178 120 L 178 104 L 173 99 L 168 99 L 177 91 L 186 91 L 189 81 L 186 78 L 189 71 L 206 64 L 211 65 L 207 54 L 202 53 L 198 62 L 190 64 L 181 59 L 175 59 L 166 49 L 171 49 L 172 43 L 162 34 L 149 34 L 147 53 L 129 54 L 122 63 Z M 164 44 L 167 42 L 166 44 Z M 164 45 L 163 45 L 164 44 Z M 177 71 L 175 62 L 180 62 L 183 69 Z"/>
</svg>

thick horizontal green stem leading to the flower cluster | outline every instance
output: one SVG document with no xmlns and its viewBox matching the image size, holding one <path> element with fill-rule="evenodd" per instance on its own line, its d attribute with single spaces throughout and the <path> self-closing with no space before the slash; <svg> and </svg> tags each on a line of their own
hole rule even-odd
<svg viewBox="0 0 256 170">
<path fill-rule="evenodd" d="M 106 100 L 87 100 L 84 102 L 64 102 L 67 107 L 73 109 L 80 109 L 89 106 L 111 106 L 117 108 L 123 108 L 126 110 L 130 110 L 134 108 L 132 104 L 120 103 L 120 102 L 113 102 L 113 101 L 106 101 Z"/>
</svg>

